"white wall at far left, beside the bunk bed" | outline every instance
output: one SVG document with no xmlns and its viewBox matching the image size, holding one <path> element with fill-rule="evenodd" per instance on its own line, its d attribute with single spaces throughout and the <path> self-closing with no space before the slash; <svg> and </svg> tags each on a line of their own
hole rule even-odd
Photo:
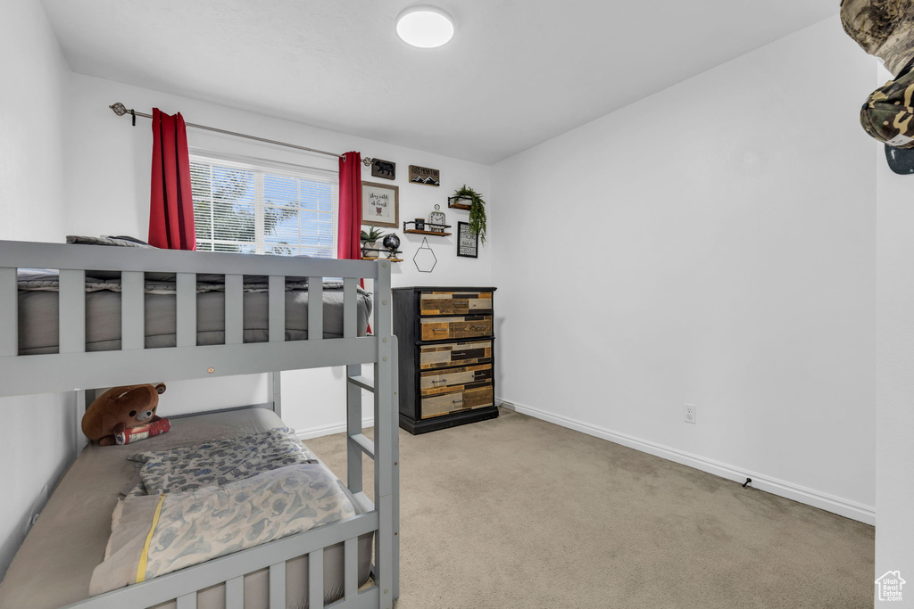
<svg viewBox="0 0 914 609">
<path fill-rule="evenodd" d="M 0 19 L 0 239 L 60 240 L 69 68 L 41 5 Z M 48 371 L 53 374 L 53 371 Z M 72 395 L 0 400 L 0 578 L 74 450 Z"/>
</svg>

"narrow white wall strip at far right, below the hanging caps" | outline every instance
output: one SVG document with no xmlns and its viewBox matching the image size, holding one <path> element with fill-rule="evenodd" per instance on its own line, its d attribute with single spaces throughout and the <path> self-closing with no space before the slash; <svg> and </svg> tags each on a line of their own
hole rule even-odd
<svg viewBox="0 0 914 609">
<path fill-rule="evenodd" d="M 879 68 L 878 84 L 891 76 Z M 877 146 L 876 576 L 900 571 L 914 607 L 914 176 Z"/>
</svg>

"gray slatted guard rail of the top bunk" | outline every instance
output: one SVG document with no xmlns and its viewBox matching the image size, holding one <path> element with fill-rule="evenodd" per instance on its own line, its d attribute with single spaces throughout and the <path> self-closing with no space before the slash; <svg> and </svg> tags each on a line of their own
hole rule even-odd
<svg viewBox="0 0 914 609">
<path fill-rule="evenodd" d="M 58 353 L 18 355 L 17 268 L 59 271 Z M 122 348 L 85 357 L 83 285 L 93 269 L 122 274 Z M 175 273 L 174 348 L 144 348 L 144 272 Z M 225 344 L 197 346 L 196 275 L 200 273 L 225 275 Z M 379 274 L 389 277 L 389 263 L 0 241 L 0 395 L 148 383 L 151 371 L 156 378 L 179 380 L 374 362 L 379 332 L 358 337 L 356 286 L 359 278 L 377 279 Z M 269 277 L 268 342 L 243 342 L 246 275 Z M 342 339 L 324 341 L 324 308 L 309 307 L 308 340 L 285 340 L 286 276 L 309 278 L 311 302 L 321 301 L 324 278 L 342 278 Z M 376 317 L 382 318 L 385 310 L 389 315 L 384 299 L 374 299 Z"/>
</svg>

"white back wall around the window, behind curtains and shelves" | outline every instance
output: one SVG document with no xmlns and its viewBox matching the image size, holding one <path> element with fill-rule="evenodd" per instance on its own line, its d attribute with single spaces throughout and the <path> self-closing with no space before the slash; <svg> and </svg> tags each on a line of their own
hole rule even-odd
<svg viewBox="0 0 914 609">
<path fill-rule="evenodd" d="M 467 220 L 469 212 L 447 208 L 447 196 L 466 183 L 483 194 L 491 191 L 490 168 L 429 152 L 410 150 L 383 142 L 366 140 L 301 123 L 274 119 L 244 110 L 190 100 L 125 85 L 111 80 L 80 74 L 72 75 L 69 103 L 73 121 L 73 163 L 69 164 L 67 231 L 80 235 L 134 235 L 145 238 L 149 215 L 149 167 L 152 154 L 150 121 L 139 119 L 132 128 L 128 118 L 118 118 L 108 106 L 122 101 L 128 108 L 149 112 L 157 107 L 168 113 L 180 111 L 186 121 L 250 133 L 282 142 L 298 143 L 309 148 L 333 152 L 356 150 L 363 156 L 397 163 L 400 222 L 428 217 L 434 205 L 440 204 L 456 229 L 457 220 Z M 366 99 L 370 103 L 370 99 Z M 251 142 L 209 131 L 188 129 L 190 146 L 285 163 L 304 164 L 336 170 L 337 161 L 324 155 L 295 152 L 271 144 Z M 441 170 L 441 186 L 409 184 L 409 164 Z M 371 177 L 363 168 L 363 179 L 388 181 Z M 454 237 L 429 237 L 429 245 L 438 257 L 432 273 L 420 273 L 412 256 L 421 238 L 403 235 L 401 226 L 388 229 L 399 234 L 405 261 L 393 265 L 393 285 L 488 285 L 492 281 L 491 247 L 481 248 L 478 259 L 456 256 Z M 456 231 L 455 231 L 456 232 Z M 370 287 L 370 286 L 369 286 Z M 366 372 L 367 370 L 366 367 Z M 342 368 L 308 372 L 283 373 L 283 418 L 309 435 L 341 429 L 345 423 L 345 383 Z M 215 379 L 213 381 L 216 381 Z M 165 413 L 176 414 L 201 407 L 226 407 L 265 400 L 262 376 L 225 383 L 171 383 L 162 397 Z M 217 394 L 214 395 L 213 392 Z M 301 404 L 301 396 L 317 395 Z M 370 417 L 366 394 L 366 417 Z"/>
</svg>

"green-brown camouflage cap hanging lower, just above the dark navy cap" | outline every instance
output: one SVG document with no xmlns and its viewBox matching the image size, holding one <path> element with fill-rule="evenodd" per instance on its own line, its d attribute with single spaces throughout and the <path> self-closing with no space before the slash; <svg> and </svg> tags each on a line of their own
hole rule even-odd
<svg viewBox="0 0 914 609">
<path fill-rule="evenodd" d="M 914 70 L 901 70 L 895 80 L 870 93 L 860 109 L 860 124 L 879 142 L 914 148 Z"/>
</svg>

